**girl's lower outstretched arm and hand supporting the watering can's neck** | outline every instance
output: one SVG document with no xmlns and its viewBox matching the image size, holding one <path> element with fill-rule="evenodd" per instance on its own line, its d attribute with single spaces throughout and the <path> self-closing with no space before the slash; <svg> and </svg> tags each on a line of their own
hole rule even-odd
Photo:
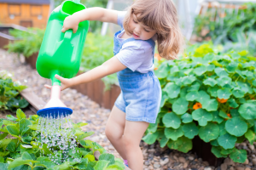
<svg viewBox="0 0 256 170">
<path fill-rule="evenodd" d="M 66 88 L 70 88 L 72 86 L 85 83 L 85 82 L 93 82 L 99 78 L 106 77 L 110 74 L 113 74 L 118 71 L 122 71 L 126 68 L 117 57 L 113 56 L 113 58 L 108 59 L 105 63 L 96 68 L 84 72 L 83 74 L 79 75 L 78 77 L 73 77 L 71 79 L 63 78 L 58 75 L 55 77 L 61 81 L 61 90 Z M 49 85 L 44 85 L 45 88 L 51 88 Z"/>
</svg>

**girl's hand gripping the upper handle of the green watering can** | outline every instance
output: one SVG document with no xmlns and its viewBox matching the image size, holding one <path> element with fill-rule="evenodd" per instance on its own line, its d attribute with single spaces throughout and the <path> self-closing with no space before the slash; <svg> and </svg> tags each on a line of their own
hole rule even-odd
<svg viewBox="0 0 256 170">
<path fill-rule="evenodd" d="M 73 30 L 73 33 L 76 33 L 79 29 L 79 19 L 78 17 L 74 15 L 67 16 L 66 19 L 64 20 L 62 30 L 61 32 L 65 32 L 69 29 Z"/>
</svg>

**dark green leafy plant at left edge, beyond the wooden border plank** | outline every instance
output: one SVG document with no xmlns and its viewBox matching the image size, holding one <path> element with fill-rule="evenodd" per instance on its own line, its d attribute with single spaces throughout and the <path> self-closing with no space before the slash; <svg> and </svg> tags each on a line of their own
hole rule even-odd
<svg viewBox="0 0 256 170">
<path fill-rule="evenodd" d="M 0 111 L 15 112 L 19 108 L 26 108 L 28 102 L 19 95 L 25 88 L 26 86 L 13 82 L 5 71 L 0 71 Z"/>
</svg>

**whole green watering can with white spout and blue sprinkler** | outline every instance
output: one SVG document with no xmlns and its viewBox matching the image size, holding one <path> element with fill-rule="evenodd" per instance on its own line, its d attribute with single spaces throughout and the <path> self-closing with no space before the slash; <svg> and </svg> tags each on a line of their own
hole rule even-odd
<svg viewBox="0 0 256 170">
<path fill-rule="evenodd" d="M 41 77 L 49 78 L 52 82 L 51 99 L 44 109 L 38 111 L 39 116 L 56 117 L 60 112 L 65 113 L 64 116 L 72 114 L 72 110 L 60 100 L 61 82 L 55 78 L 55 74 L 72 78 L 79 71 L 89 21 L 80 22 L 76 33 L 73 33 L 73 30 L 63 33 L 61 29 L 67 16 L 84 8 L 85 6 L 80 3 L 80 0 L 67 0 L 55 8 L 49 16 L 38 54 L 37 70 Z"/>
</svg>

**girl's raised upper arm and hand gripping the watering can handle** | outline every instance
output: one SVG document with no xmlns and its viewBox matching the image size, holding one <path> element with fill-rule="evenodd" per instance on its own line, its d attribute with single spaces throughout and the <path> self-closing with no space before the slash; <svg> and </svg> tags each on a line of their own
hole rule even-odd
<svg viewBox="0 0 256 170">
<path fill-rule="evenodd" d="M 63 23 L 62 32 L 73 29 L 73 33 L 78 30 L 79 22 L 84 20 L 100 20 L 117 24 L 118 11 L 106 8 L 86 8 L 67 16 Z"/>
</svg>

